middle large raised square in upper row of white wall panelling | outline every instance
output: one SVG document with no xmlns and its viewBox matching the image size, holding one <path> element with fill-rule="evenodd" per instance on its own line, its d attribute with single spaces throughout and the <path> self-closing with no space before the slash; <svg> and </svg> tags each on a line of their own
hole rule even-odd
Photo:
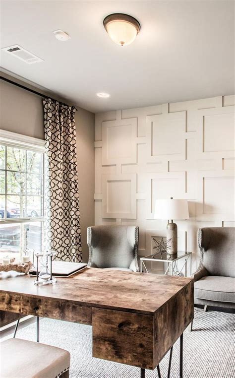
<svg viewBox="0 0 235 378">
<path fill-rule="evenodd" d="M 186 112 L 148 116 L 147 161 L 185 159 Z"/>
</svg>

